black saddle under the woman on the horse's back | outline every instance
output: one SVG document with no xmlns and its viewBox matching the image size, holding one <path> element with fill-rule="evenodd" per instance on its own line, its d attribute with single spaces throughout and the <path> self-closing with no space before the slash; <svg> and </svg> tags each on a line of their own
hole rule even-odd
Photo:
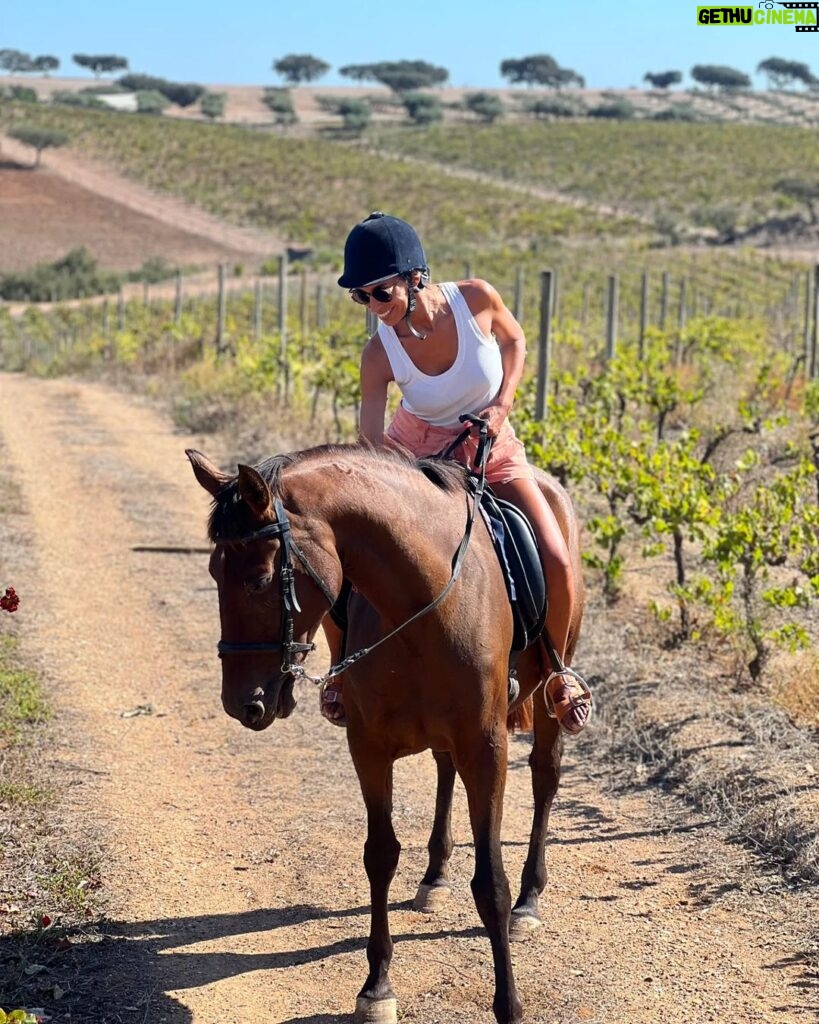
<svg viewBox="0 0 819 1024">
<path fill-rule="evenodd" d="M 486 487 L 481 512 L 494 545 L 512 607 L 512 653 L 534 643 L 544 631 L 549 608 L 543 563 L 534 530 L 519 508 Z"/>
</svg>

